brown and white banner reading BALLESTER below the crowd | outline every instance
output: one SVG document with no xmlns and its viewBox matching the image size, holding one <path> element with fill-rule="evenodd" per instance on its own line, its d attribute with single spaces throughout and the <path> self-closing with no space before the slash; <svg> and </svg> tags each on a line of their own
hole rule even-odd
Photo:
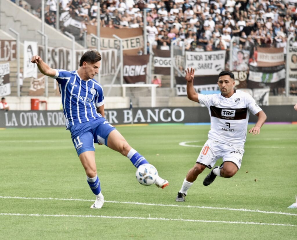
<svg viewBox="0 0 297 240">
<path fill-rule="evenodd" d="M 87 46 L 97 48 L 97 40 L 91 33 L 97 35 L 97 26 L 87 25 Z M 123 39 L 124 55 L 137 55 L 139 49 L 143 49 L 143 29 L 142 28 L 100 28 L 100 47 L 101 49 L 119 49 L 120 41 L 113 37 L 118 36 Z"/>
</svg>

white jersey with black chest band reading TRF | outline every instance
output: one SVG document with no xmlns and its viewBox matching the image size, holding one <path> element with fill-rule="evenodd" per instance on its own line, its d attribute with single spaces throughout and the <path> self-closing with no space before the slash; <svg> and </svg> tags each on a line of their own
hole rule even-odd
<svg viewBox="0 0 297 240">
<path fill-rule="evenodd" d="M 235 90 L 229 98 L 222 94 L 199 94 L 198 98 L 200 104 L 206 105 L 210 115 L 208 139 L 244 147 L 249 113 L 255 115 L 262 111 L 252 96 Z"/>
</svg>

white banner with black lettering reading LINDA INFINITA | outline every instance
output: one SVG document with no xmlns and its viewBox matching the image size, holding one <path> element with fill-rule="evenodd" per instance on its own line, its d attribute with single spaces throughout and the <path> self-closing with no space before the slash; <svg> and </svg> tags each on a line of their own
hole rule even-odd
<svg viewBox="0 0 297 240">
<path fill-rule="evenodd" d="M 186 68 L 194 68 L 195 75 L 215 75 L 225 69 L 226 51 L 186 52 Z"/>
</svg>

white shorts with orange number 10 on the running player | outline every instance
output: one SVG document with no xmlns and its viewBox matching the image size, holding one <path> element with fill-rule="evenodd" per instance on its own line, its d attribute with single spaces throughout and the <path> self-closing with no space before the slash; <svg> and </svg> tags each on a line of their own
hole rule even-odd
<svg viewBox="0 0 297 240">
<path fill-rule="evenodd" d="M 242 147 L 208 139 L 196 162 L 211 169 L 219 158 L 223 158 L 223 163 L 233 162 L 240 169 L 243 153 L 244 149 Z"/>
</svg>

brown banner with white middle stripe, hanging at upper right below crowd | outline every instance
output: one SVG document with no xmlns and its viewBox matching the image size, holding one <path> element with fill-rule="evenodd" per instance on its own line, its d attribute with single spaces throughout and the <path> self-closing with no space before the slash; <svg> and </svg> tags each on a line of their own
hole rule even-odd
<svg viewBox="0 0 297 240">
<path fill-rule="evenodd" d="M 257 52 L 258 67 L 273 67 L 285 64 L 283 47 L 258 47 Z"/>
</svg>

